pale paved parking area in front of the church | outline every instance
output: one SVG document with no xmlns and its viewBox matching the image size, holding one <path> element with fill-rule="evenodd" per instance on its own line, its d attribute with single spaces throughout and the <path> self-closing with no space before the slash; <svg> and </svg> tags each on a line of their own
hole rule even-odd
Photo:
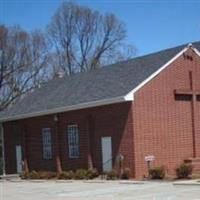
<svg viewBox="0 0 200 200">
<path fill-rule="evenodd" d="M 158 182 L 0 182 L 1 200 L 200 200 L 200 186 Z"/>
</svg>

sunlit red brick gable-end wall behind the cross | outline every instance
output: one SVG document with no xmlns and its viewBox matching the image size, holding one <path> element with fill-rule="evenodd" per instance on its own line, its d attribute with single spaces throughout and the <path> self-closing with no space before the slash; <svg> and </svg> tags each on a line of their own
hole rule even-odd
<svg viewBox="0 0 200 200">
<path fill-rule="evenodd" d="M 189 71 L 200 91 L 200 57 L 183 56 L 173 62 L 135 94 L 133 105 L 136 177 L 147 175 L 145 155 L 155 155 L 153 165 L 163 165 L 168 174 L 192 157 L 191 102 L 175 101 L 174 89 L 190 89 Z M 196 146 L 200 156 L 200 101 L 196 104 Z"/>
</svg>

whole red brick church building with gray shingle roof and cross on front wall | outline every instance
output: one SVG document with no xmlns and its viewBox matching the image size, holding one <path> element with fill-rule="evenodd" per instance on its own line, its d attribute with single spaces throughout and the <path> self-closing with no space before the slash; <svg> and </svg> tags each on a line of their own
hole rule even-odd
<svg viewBox="0 0 200 200">
<path fill-rule="evenodd" d="M 200 173 L 200 42 L 56 78 L 0 113 L 5 172 L 183 162 Z M 121 156 L 119 156 L 121 155 Z M 23 166 L 22 166 L 23 165 Z"/>
</svg>

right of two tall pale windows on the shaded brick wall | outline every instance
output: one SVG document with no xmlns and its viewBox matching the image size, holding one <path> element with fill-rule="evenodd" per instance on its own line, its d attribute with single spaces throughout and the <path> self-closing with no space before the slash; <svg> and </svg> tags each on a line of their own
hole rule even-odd
<svg viewBox="0 0 200 200">
<path fill-rule="evenodd" d="M 80 158 L 80 138 L 79 138 L 78 124 L 67 125 L 67 141 L 68 141 L 68 157 L 70 159 Z M 77 155 L 74 155 L 74 152 L 76 151 Z"/>
</svg>

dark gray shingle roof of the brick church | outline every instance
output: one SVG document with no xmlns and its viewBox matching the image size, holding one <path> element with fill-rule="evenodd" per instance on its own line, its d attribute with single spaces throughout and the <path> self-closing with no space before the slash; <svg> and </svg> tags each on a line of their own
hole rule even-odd
<svg viewBox="0 0 200 200">
<path fill-rule="evenodd" d="M 8 110 L 0 121 L 19 115 L 125 96 L 186 45 L 137 57 L 71 77 L 57 78 L 36 89 Z M 193 43 L 200 51 L 200 42 Z"/>
</svg>

